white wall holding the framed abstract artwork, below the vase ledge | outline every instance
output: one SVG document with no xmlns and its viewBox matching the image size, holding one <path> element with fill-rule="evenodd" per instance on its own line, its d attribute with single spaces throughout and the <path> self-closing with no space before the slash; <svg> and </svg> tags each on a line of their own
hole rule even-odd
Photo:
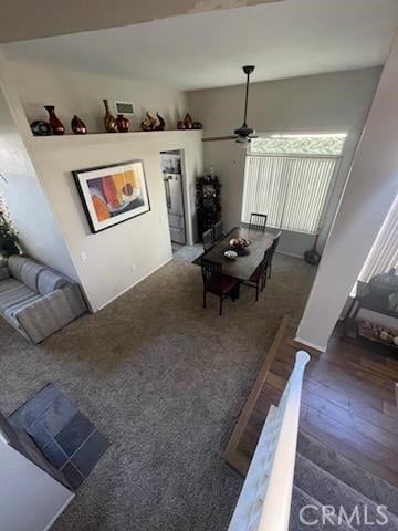
<svg viewBox="0 0 398 531">
<path fill-rule="evenodd" d="M 192 214 L 195 177 L 202 171 L 201 132 L 35 137 L 30 149 L 94 311 L 171 259 L 160 152 L 184 149 Z M 72 170 L 134 159 L 144 162 L 151 210 L 91 233 Z"/>
</svg>

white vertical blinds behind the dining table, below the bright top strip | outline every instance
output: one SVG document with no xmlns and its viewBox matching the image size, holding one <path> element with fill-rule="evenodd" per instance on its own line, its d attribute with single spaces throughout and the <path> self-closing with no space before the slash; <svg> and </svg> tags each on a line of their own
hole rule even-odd
<svg viewBox="0 0 398 531">
<path fill-rule="evenodd" d="M 270 227 L 318 231 L 338 157 L 248 155 L 242 221 L 268 215 Z"/>
</svg>

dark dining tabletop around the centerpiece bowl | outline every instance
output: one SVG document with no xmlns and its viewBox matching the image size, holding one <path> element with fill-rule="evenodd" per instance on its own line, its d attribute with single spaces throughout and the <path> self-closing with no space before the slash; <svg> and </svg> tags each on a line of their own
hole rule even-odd
<svg viewBox="0 0 398 531">
<path fill-rule="evenodd" d="M 223 274 L 229 274 L 244 282 L 250 279 L 264 259 L 265 251 L 272 246 L 274 237 L 271 232 L 234 227 L 212 249 L 206 252 L 203 258 L 211 262 L 221 263 Z M 233 260 L 224 256 L 224 252 L 231 249 L 229 242 L 232 238 L 244 238 L 251 242 L 249 247 L 244 248 L 245 253 Z"/>
</svg>

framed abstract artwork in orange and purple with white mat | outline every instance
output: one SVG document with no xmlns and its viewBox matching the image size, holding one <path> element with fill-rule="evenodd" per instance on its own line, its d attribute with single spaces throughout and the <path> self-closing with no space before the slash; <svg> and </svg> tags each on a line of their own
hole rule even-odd
<svg viewBox="0 0 398 531">
<path fill-rule="evenodd" d="M 150 210 L 142 160 L 72 171 L 92 232 Z"/>
</svg>

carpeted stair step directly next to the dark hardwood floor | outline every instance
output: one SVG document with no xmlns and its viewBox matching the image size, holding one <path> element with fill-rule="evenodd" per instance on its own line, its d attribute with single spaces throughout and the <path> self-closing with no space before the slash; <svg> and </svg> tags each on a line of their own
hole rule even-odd
<svg viewBox="0 0 398 531">
<path fill-rule="evenodd" d="M 300 430 L 297 451 L 376 504 L 398 517 L 398 489 Z"/>
</svg>

